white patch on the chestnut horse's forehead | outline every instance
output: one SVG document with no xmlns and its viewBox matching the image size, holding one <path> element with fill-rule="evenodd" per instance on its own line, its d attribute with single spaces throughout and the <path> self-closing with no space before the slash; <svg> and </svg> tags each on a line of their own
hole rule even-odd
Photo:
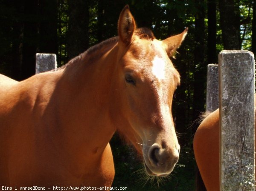
<svg viewBox="0 0 256 191">
<path fill-rule="evenodd" d="M 165 78 L 165 60 L 163 60 L 163 58 L 155 56 L 154 59 L 152 60 L 152 63 L 153 74 L 157 77 L 158 80 L 163 80 Z"/>
</svg>

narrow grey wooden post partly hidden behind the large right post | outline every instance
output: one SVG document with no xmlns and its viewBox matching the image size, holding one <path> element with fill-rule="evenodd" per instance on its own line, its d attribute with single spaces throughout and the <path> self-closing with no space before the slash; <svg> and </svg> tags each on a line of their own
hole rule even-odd
<svg viewBox="0 0 256 191">
<path fill-rule="evenodd" d="M 207 66 L 206 111 L 215 111 L 219 108 L 218 98 L 218 64 Z"/>
</svg>

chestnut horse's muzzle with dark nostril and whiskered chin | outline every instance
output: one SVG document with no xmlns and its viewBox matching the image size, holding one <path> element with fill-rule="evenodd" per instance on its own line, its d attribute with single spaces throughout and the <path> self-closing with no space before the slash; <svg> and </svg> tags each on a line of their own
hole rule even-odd
<svg viewBox="0 0 256 191">
<path fill-rule="evenodd" d="M 152 176 L 167 176 L 179 159 L 180 145 L 171 149 L 154 143 L 148 151 L 143 149 L 144 165 L 147 173 Z"/>
</svg>

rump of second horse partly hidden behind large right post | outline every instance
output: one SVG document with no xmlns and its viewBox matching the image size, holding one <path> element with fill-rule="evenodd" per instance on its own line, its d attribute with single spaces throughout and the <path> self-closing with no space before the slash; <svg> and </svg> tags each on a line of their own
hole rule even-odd
<svg viewBox="0 0 256 191">
<path fill-rule="evenodd" d="M 256 99 L 256 94 L 254 99 Z M 254 111 L 256 111 L 256 102 L 254 103 Z M 254 124 L 256 124 L 256 116 Z M 205 188 L 207 191 L 219 191 L 219 109 L 210 113 L 201 122 L 195 132 L 193 147 L 195 160 Z"/>
</svg>

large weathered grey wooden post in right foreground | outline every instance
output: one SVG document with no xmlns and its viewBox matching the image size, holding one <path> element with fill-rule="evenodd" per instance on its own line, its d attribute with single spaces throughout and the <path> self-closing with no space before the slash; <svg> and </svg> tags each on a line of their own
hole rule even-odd
<svg viewBox="0 0 256 191">
<path fill-rule="evenodd" d="M 254 56 L 221 51 L 218 63 L 220 190 L 255 191 Z"/>
</svg>

